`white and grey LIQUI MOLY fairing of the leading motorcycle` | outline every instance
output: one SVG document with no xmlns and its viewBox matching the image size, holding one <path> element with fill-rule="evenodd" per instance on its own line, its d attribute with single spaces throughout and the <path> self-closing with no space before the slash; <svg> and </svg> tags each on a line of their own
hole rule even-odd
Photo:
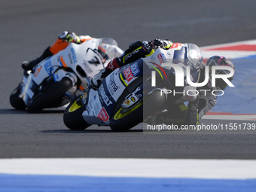
<svg viewBox="0 0 256 192">
<path fill-rule="evenodd" d="M 117 100 L 120 98 L 124 90 L 129 90 L 129 85 L 141 76 L 147 77 L 147 86 L 149 89 L 145 92 L 145 87 L 140 84 L 136 90 L 130 90 L 129 95 L 126 96 L 122 103 L 123 110 L 129 110 L 133 108 L 144 96 L 150 95 L 153 90 L 159 89 L 157 87 L 151 87 L 151 67 L 162 66 L 163 62 L 172 62 L 175 50 L 181 49 L 181 46 L 173 47 L 171 51 L 157 49 L 152 56 L 138 59 L 136 62 L 122 66 L 119 69 L 115 69 L 111 72 L 103 81 L 98 90 L 89 89 L 89 92 L 85 96 L 83 101 L 86 110 L 83 112 L 84 120 L 89 124 L 98 124 L 100 126 L 107 126 L 110 123 L 110 117 L 113 115 L 114 106 Z M 181 66 L 183 69 L 186 66 L 184 62 L 175 63 Z M 162 67 L 161 67 L 162 68 Z M 143 70 L 145 69 L 145 70 Z M 161 69 L 165 74 L 165 80 L 169 81 L 169 75 L 175 75 L 174 69 L 170 66 L 163 66 Z M 195 71 L 198 74 L 198 71 Z M 186 74 L 186 73 L 184 73 Z M 198 75 L 197 75 L 198 76 Z M 169 84 L 174 87 L 173 81 L 169 81 Z M 182 87 L 184 88 L 184 87 Z"/>
</svg>

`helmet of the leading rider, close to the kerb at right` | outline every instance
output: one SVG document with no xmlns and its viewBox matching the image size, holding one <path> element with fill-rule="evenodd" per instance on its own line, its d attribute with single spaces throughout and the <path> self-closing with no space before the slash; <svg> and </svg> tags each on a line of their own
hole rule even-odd
<svg viewBox="0 0 256 192">
<path fill-rule="evenodd" d="M 227 59 L 224 56 L 211 56 L 207 62 L 206 66 L 209 66 L 209 82 L 212 85 L 212 66 L 229 66 L 235 70 L 235 66 L 233 65 L 233 62 L 230 61 L 230 59 Z M 230 71 L 228 70 L 220 70 L 218 69 L 216 71 L 216 75 L 225 75 L 229 74 Z M 234 76 L 234 75 L 233 75 Z M 230 78 L 227 78 L 230 82 L 233 80 L 233 76 Z M 215 87 L 218 90 L 224 90 L 227 87 L 227 84 L 223 79 L 216 78 Z"/>
</svg>

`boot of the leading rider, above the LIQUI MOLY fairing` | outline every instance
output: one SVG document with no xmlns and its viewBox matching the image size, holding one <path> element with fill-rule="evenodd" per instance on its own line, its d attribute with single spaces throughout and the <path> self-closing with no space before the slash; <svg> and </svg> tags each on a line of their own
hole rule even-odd
<svg viewBox="0 0 256 192">
<path fill-rule="evenodd" d="M 103 79 L 105 79 L 114 69 L 119 68 L 119 64 L 117 63 L 117 58 L 112 59 L 111 62 L 108 62 L 108 66 L 105 69 L 102 69 L 98 74 L 94 75 L 91 80 L 91 83 L 95 89 L 98 89 L 102 84 Z"/>
</svg>

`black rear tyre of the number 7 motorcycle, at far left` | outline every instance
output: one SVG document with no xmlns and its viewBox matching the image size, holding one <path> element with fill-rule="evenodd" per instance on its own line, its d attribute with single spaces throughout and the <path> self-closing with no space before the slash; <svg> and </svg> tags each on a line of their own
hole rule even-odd
<svg viewBox="0 0 256 192">
<path fill-rule="evenodd" d="M 11 92 L 10 103 L 13 108 L 18 110 L 26 109 L 25 102 L 20 98 L 20 85 Z"/>
</svg>

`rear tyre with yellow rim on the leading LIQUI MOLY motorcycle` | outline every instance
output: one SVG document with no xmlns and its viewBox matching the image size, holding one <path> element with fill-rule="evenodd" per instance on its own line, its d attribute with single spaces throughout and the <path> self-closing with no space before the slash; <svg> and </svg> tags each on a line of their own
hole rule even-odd
<svg viewBox="0 0 256 192">
<path fill-rule="evenodd" d="M 80 97 L 72 101 L 63 114 L 63 121 L 70 130 L 85 130 L 90 126 L 82 116 L 85 108 L 84 105 L 78 105 L 78 99 L 80 99 Z"/>
</svg>

